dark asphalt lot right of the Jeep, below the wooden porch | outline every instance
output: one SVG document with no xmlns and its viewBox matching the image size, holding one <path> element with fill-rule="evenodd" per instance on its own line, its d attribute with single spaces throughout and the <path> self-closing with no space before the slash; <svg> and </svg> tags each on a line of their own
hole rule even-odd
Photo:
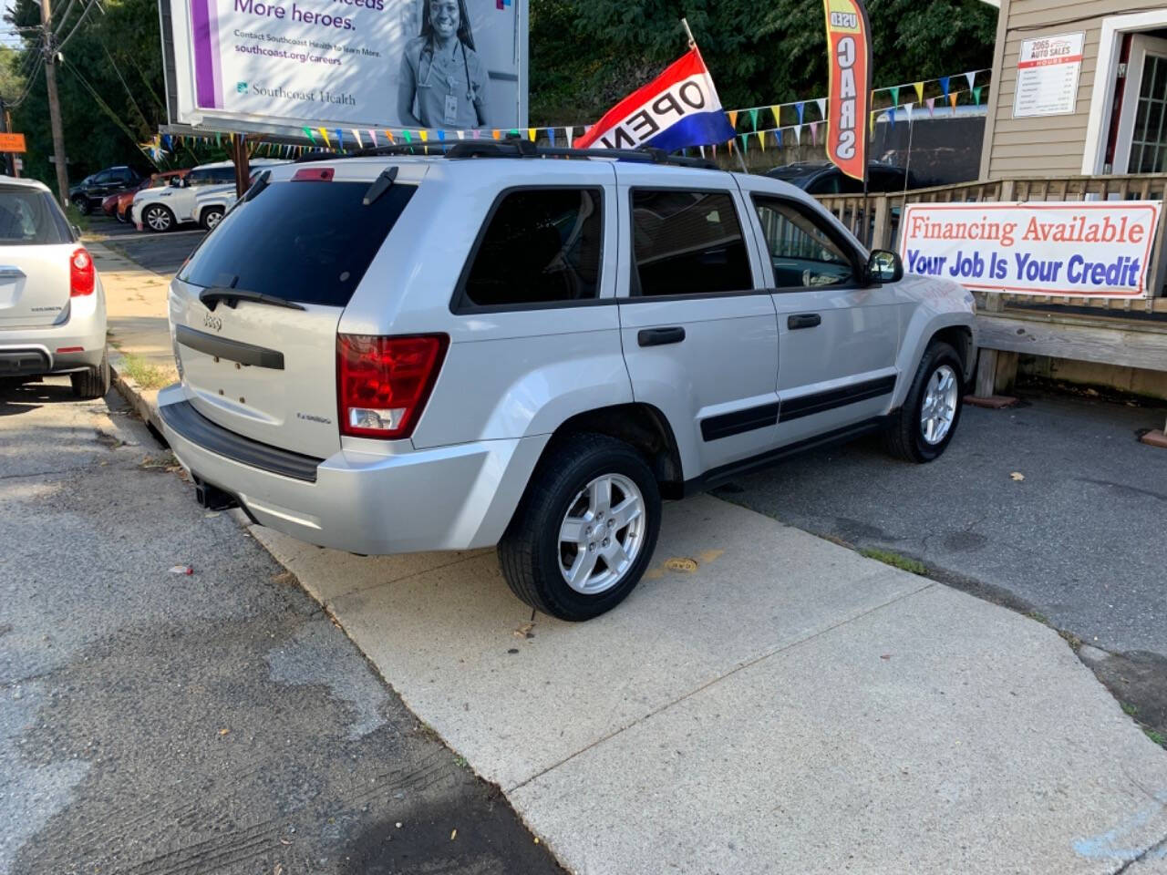
<svg viewBox="0 0 1167 875">
<path fill-rule="evenodd" d="M 1162 427 L 1167 411 L 1023 400 L 965 408 L 932 464 L 894 461 L 865 440 L 791 459 L 719 495 L 918 559 L 932 576 L 1035 610 L 1100 649 L 1167 656 L 1167 452 L 1135 439 Z"/>
</svg>

